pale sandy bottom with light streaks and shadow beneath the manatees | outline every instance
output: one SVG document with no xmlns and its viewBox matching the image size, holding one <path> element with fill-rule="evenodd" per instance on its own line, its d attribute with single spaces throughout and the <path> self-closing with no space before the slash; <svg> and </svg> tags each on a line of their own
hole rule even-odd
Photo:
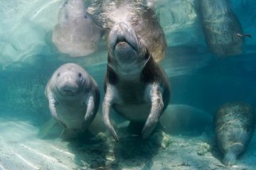
<svg viewBox="0 0 256 170">
<path fill-rule="evenodd" d="M 153 135 L 151 140 L 122 135 L 100 140 L 41 140 L 28 122 L 0 118 L 0 169 L 256 169 L 256 137 L 237 165 L 223 166 L 213 135 Z M 165 142 L 159 142 L 159 138 Z M 103 140 L 105 139 L 105 140 Z"/>
</svg>

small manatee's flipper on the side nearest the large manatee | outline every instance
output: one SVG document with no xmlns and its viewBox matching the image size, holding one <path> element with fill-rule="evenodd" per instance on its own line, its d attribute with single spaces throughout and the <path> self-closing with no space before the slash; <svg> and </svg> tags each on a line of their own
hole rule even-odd
<svg viewBox="0 0 256 170">
<path fill-rule="evenodd" d="M 97 110 L 99 108 L 99 102 L 100 102 L 100 93 L 97 93 L 96 95 L 90 95 L 87 99 L 87 111 L 85 113 L 85 121 L 82 124 L 82 129 L 86 130 L 90 123 L 92 123 L 92 120 L 95 118 L 95 115 L 97 113 Z"/>
</svg>

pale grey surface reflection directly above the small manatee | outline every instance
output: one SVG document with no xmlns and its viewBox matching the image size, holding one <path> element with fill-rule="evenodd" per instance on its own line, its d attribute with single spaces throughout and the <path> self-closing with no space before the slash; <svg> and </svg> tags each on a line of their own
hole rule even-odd
<svg viewBox="0 0 256 170">
<path fill-rule="evenodd" d="M 98 28 L 86 13 L 85 2 L 68 0 L 60 9 L 58 24 L 53 30 L 53 43 L 70 57 L 90 55 L 102 38 Z"/>
</svg>

